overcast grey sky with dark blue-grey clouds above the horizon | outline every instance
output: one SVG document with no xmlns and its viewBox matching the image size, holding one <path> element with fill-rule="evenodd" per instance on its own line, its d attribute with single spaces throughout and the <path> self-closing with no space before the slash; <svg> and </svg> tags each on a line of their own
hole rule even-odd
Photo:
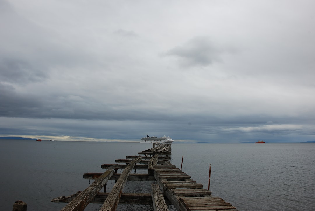
<svg viewBox="0 0 315 211">
<path fill-rule="evenodd" d="M 0 0 L 0 136 L 315 140 L 315 1 Z"/>
</svg>

